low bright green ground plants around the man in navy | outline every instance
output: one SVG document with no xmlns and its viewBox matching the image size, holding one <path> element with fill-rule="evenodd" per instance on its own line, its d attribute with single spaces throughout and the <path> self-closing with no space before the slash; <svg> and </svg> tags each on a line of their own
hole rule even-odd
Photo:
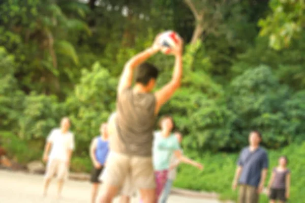
<svg viewBox="0 0 305 203">
<path fill-rule="evenodd" d="M 291 144 L 291 146 L 282 150 L 268 152 L 270 164 L 265 186 L 267 186 L 272 168 L 278 165 L 279 157 L 287 155 L 289 159 L 288 168 L 291 170 L 291 198 L 289 199 L 291 202 L 298 202 L 300 199 L 305 198 L 303 187 L 305 179 L 302 169 L 305 160 L 300 158 L 305 156 L 304 150 L 305 143 Z M 187 151 L 186 154 L 203 163 L 205 168 L 203 171 L 199 171 L 192 166 L 181 164 L 178 168 L 177 180 L 174 183 L 175 187 L 199 191 L 214 191 L 220 193 L 222 199 L 237 200 L 237 192 L 231 189 L 238 158 L 237 154 L 198 154 L 194 151 Z M 194 179 L 196 181 L 191 181 Z M 259 202 L 268 202 L 266 195 L 262 194 Z"/>
</svg>

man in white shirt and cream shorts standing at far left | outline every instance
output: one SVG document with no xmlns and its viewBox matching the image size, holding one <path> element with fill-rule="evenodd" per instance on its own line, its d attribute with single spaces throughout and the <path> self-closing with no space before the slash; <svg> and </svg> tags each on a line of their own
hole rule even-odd
<svg viewBox="0 0 305 203">
<path fill-rule="evenodd" d="M 69 131 L 70 120 L 64 117 L 60 122 L 60 128 L 55 128 L 47 137 L 47 142 L 44 149 L 43 161 L 47 163 L 44 191 L 47 190 L 51 179 L 56 173 L 58 179 L 57 197 L 59 198 L 65 180 L 68 178 L 71 155 L 74 150 L 74 135 Z M 51 152 L 49 153 L 51 149 Z"/>
</svg>

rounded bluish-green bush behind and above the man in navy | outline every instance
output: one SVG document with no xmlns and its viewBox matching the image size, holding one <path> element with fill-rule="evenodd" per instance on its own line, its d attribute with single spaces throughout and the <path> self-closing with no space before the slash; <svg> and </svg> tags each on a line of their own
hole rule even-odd
<svg viewBox="0 0 305 203">
<path fill-rule="evenodd" d="M 263 142 L 269 148 L 279 148 L 291 143 L 301 136 L 292 126 L 289 118 L 291 111 L 299 111 L 298 107 L 288 106 L 291 103 L 290 91 L 281 85 L 270 68 L 260 66 L 248 70 L 232 80 L 229 86 L 228 105 L 237 114 L 237 128 L 242 135 L 251 129 L 263 132 Z"/>
</svg>

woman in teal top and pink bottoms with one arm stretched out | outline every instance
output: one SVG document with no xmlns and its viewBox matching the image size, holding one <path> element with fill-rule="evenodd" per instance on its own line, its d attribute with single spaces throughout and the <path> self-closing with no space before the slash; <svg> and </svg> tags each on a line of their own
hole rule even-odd
<svg viewBox="0 0 305 203">
<path fill-rule="evenodd" d="M 203 168 L 202 164 L 182 155 L 179 140 L 177 136 L 172 133 L 175 128 L 172 117 L 165 115 L 160 119 L 159 125 L 161 130 L 154 133 L 155 139 L 153 143 L 153 165 L 157 184 L 157 202 L 159 201 L 159 197 L 167 181 L 170 159 L 173 155 L 181 162 L 191 164 L 199 169 Z"/>
</svg>

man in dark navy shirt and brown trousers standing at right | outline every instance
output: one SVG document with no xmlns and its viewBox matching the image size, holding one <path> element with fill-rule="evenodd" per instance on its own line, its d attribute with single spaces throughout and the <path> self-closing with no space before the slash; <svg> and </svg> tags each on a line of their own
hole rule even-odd
<svg viewBox="0 0 305 203">
<path fill-rule="evenodd" d="M 262 135 L 252 131 L 249 135 L 250 145 L 242 149 L 237 162 L 232 188 L 239 183 L 239 203 L 258 203 L 267 176 L 268 156 L 260 147 Z"/>
</svg>

